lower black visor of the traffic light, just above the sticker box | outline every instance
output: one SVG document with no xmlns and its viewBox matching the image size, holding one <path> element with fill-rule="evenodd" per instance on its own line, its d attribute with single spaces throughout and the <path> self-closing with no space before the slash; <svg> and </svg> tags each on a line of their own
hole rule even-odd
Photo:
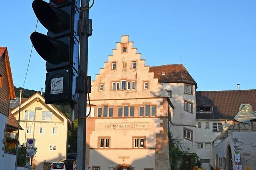
<svg viewBox="0 0 256 170">
<path fill-rule="evenodd" d="M 37 53 L 51 64 L 60 64 L 68 61 L 68 45 L 47 35 L 33 32 L 30 40 Z"/>
</svg>

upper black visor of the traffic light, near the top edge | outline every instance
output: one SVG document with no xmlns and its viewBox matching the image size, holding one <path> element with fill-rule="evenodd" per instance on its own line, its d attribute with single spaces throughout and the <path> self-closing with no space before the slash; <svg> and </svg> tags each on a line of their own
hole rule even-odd
<svg viewBox="0 0 256 170">
<path fill-rule="evenodd" d="M 58 9 L 43 0 L 34 0 L 32 8 L 36 17 L 46 29 L 53 33 L 61 33 L 70 29 L 70 14 Z"/>
</svg>

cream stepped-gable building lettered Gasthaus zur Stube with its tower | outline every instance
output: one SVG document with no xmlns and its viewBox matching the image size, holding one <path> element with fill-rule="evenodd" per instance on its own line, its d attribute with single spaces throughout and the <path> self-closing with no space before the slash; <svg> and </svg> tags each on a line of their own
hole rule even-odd
<svg viewBox="0 0 256 170">
<path fill-rule="evenodd" d="M 183 65 L 147 66 L 122 36 L 92 81 L 86 164 L 92 170 L 169 170 L 168 128 L 186 132 L 181 138 L 194 148 L 195 90 Z"/>
</svg>

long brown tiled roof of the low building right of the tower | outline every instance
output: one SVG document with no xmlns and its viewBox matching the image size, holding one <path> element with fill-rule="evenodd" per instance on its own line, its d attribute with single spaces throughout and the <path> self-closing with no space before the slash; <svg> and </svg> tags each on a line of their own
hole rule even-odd
<svg viewBox="0 0 256 170">
<path fill-rule="evenodd" d="M 233 119 L 241 104 L 256 109 L 256 89 L 230 91 L 198 91 L 196 106 L 213 106 L 213 113 L 196 113 L 196 119 Z"/>
</svg>

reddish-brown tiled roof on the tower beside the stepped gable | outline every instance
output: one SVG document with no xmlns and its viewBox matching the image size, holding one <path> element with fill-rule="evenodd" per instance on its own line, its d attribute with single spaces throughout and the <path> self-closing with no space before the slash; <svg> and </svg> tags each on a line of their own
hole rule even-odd
<svg viewBox="0 0 256 170">
<path fill-rule="evenodd" d="M 159 83 L 188 83 L 197 84 L 195 80 L 190 76 L 188 70 L 183 64 L 168 64 L 162 66 L 152 66 L 149 68 L 150 72 L 154 72 L 154 78 L 158 78 Z M 165 75 L 162 75 L 162 72 Z"/>
</svg>

